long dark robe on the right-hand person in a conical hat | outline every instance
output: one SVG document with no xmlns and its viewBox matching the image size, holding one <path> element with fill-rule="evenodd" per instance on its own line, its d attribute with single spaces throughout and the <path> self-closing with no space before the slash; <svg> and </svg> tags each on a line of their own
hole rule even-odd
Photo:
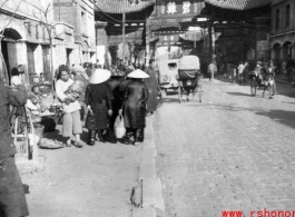
<svg viewBox="0 0 295 217">
<path fill-rule="evenodd" d="M 145 82 L 135 80 L 129 82 L 125 91 L 124 118 L 125 127 L 131 129 L 146 126 L 146 101 L 148 88 Z"/>
</svg>

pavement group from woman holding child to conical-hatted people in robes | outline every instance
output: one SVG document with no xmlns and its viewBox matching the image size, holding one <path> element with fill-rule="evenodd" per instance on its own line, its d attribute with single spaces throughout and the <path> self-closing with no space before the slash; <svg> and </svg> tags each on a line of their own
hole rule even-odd
<svg viewBox="0 0 295 217">
<path fill-rule="evenodd" d="M 71 146 L 70 137 L 73 134 L 75 146 L 82 147 L 81 120 L 88 129 L 89 145 L 95 145 L 98 139 L 102 142 L 109 141 L 110 130 L 119 114 L 122 114 L 127 128 L 122 141 L 134 145 L 142 142 L 145 117 L 157 109 L 157 96 L 160 91 L 155 60 L 150 60 L 145 72 L 130 66 L 122 68 L 121 65 L 117 68 L 104 66 L 104 69 L 92 68 L 90 63 L 83 63 L 83 67 L 72 66 L 69 69 L 60 66 L 57 75 L 57 97 L 59 101 L 67 103 L 62 118 L 66 145 Z M 67 95 L 67 89 L 77 80 L 81 81 L 82 91 L 77 97 Z"/>
</svg>

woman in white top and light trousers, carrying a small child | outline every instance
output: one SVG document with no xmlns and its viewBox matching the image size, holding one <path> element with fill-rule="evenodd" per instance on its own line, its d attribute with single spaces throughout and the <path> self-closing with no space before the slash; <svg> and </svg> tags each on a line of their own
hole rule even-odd
<svg viewBox="0 0 295 217">
<path fill-rule="evenodd" d="M 60 79 L 56 83 L 57 97 L 65 102 L 65 114 L 62 117 L 62 136 L 67 138 L 67 147 L 71 146 L 70 137 L 76 136 L 76 147 L 81 148 L 80 134 L 82 134 L 80 109 L 81 106 L 76 98 L 65 95 L 68 88 L 73 83 L 70 79 L 69 69 L 66 66 L 60 67 Z"/>
</svg>

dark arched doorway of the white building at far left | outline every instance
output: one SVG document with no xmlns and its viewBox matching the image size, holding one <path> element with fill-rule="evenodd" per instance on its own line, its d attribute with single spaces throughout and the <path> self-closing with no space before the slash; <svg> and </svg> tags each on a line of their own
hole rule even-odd
<svg viewBox="0 0 295 217">
<path fill-rule="evenodd" d="M 22 39 L 21 34 L 12 29 L 7 28 L 0 32 L 2 34 L 1 39 L 1 68 L 4 73 L 1 73 L 1 78 L 8 79 L 6 82 L 10 83 L 10 70 L 12 67 L 17 66 L 17 52 L 14 42 Z"/>
</svg>

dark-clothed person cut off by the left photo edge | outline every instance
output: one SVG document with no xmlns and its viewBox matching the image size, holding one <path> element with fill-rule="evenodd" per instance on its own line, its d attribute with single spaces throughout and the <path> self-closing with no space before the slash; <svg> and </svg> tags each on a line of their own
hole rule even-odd
<svg viewBox="0 0 295 217">
<path fill-rule="evenodd" d="M 24 106 L 27 99 L 28 95 L 23 85 L 7 87 L 0 83 L 0 216 L 29 215 L 23 185 L 14 162 L 17 150 L 9 122 L 9 106 Z"/>
</svg>

